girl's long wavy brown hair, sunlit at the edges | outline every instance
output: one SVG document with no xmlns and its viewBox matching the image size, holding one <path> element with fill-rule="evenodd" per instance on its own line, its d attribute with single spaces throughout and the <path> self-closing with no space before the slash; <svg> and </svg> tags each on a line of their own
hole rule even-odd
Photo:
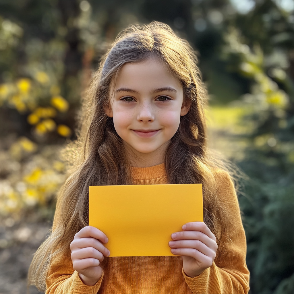
<svg viewBox="0 0 294 294">
<path fill-rule="evenodd" d="M 83 102 L 78 140 L 70 147 L 82 157 L 59 192 L 52 232 L 34 255 L 29 285 L 46 290 L 50 260 L 68 251 L 74 235 L 88 225 L 89 186 L 132 184 L 122 139 L 115 131 L 113 119 L 104 110 L 109 107 L 111 82 L 121 67 L 149 58 L 159 59 L 178 78 L 183 86 L 184 103 L 190 104 L 166 150 L 168 183 L 203 183 L 204 221 L 217 240 L 220 239 L 220 226 L 222 230 L 225 228 L 228 216 L 217 197 L 214 172 L 225 165 L 207 152 L 204 115 L 207 93 L 196 54 L 166 24 L 131 26 L 118 35 L 101 61 Z M 81 145 L 82 149 L 75 149 Z M 218 255 L 221 250 L 219 244 Z"/>
</svg>

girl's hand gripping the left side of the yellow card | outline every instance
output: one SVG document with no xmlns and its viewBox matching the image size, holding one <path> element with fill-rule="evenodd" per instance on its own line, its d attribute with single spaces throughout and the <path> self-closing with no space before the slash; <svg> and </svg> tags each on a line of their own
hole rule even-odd
<svg viewBox="0 0 294 294">
<path fill-rule="evenodd" d="M 106 235 L 95 227 L 87 225 L 74 236 L 70 244 L 71 260 L 74 270 L 85 285 L 93 286 L 101 278 L 100 262 L 109 256 L 109 250 L 102 244 L 107 243 Z"/>
</svg>

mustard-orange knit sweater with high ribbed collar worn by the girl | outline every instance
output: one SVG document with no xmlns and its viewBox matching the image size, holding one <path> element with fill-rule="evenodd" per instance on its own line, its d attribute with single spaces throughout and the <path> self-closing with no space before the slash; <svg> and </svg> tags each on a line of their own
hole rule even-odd
<svg viewBox="0 0 294 294">
<path fill-rule="evenodd" d="M 167 184 L 164 163 L 131 168 L 134 184 Z M 220 241 L 225 256 L 191 278 L 183 271 L 181 256 L 108 257 L 103 274 L 93 286 L 85 285 L 73 269 L 70 250 L 51 261 L 46 294 L 247 294 L 246 239 L 233 182 L 228 173 L 216 172 L 218 197 L 231 217 L 230 229 Z M 58 211 L 58 203 L 56 211 Z M 56 221 L 55 213 L 54 222 Z M 54 223 L 53 223 L 54 228 Z M 107 247 L 107 245 L 106 245 Z"/>
</svg>

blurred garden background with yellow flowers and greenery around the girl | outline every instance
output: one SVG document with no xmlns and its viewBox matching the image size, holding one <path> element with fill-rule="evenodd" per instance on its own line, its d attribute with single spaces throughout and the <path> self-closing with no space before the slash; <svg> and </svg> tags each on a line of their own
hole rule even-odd
<svg viewBox="0 0 294 294">
<path fill-rule="evenodd" d="M 294 0 L 0 0 L 0 294 L 26 293 L 101 56 L 153 20 L 198 51 L 209 144 L 248 175 L 250 293 L 294 293 L 293 11 Z"/>
</svg>

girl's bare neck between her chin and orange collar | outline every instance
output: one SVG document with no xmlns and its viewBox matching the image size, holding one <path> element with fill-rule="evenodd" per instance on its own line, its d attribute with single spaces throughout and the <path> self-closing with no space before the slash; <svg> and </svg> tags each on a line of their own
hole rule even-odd
<svg viewBox="0 0 294 294">
<path fill-rule="evenodd" d="M 150 153 L 141 153 L 136 151 L 134 148 L 132 148 L 126 143 L 124 145 L 131 166 L 150 167 L 164 163 L 166 148 L 168 144 L 169 142 L 166 142 L 160 148 Z"/>
</svg>

